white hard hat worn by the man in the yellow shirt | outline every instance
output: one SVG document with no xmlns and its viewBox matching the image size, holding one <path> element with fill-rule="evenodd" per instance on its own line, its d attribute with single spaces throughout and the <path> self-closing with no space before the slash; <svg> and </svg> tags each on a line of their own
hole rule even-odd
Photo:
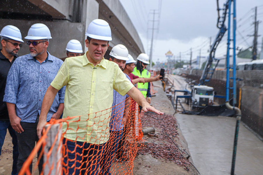
<svg viewBox="0 0 263 175">
<path fill-rule="evenodd" d="M 111 30 L 108 22 L 101 19 L 96 19 L 91 21 L 85 35 L 89 36 L 90 38 L 99 39 L 99 40 L 105 40 L 105 41 L 112 40 Z"/>
</svg>

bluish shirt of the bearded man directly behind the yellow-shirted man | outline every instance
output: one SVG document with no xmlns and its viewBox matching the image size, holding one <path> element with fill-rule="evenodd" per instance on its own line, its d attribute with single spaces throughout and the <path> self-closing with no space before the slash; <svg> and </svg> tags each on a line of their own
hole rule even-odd
<svg viewBox="0 0 263 175">
<path fill-rule="evenodd" d="M 131 81 L 130 77 L 127 74 L 124 75 L 126 75 L 129 81 Z M 110 130 L 112 131 L 120 131 L 124 127 L 124 125 L 122 124 L 122 118 L 125 108 L 125 99 L 127 97 L 129 97 L 129 95 L 126 94 L 122 96 L 116 90 L 113 90 L 113 104 L 110 120 Z"/>
</svg>

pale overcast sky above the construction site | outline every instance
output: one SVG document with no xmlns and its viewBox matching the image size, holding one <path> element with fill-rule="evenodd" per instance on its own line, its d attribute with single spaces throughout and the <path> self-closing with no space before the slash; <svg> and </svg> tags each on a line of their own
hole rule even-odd
<svg viewBox="0 0 263 175">
<path fill-rule="evenodd" d="M 153 62 L 158 59 L 165 62 L 165 53 L 171 50 L 175 59 L 190 60 L 190 48 L 193 50 L 193 59 L 200 54 L 209 55 L 210 37 L 214 42 L 219 29 L 217 24 L 216 0 L 120 0 L 134 27 L 141 37 L 145 52 L 149 54 L 152 34 L 153 10 L 155 14 Z M 161 3 L 160 3 L 161 2 Z M 223 8 L 226 0 L 219 0 L 219 8 Z M 248 48 L 252 46 L 255 19 L 255 6 L 257 7 L 257 20 L 263 21 L 262 0 L 237 0 L 237 27 L 236 46 Z M 220 11 L 222 15 L 222 10 Z M 228 18 L 225 25 L 227 26 Z M 258 34 L 263 34 L 263 22 L 259 23 Z M 216 57 L 226 55 L 227 32 L 219 44 Z M 261 48 L 262 36 L 258 38 L 258 48 Z M 259 52 L 259 51 L 258 51 Z"/>
</svg>

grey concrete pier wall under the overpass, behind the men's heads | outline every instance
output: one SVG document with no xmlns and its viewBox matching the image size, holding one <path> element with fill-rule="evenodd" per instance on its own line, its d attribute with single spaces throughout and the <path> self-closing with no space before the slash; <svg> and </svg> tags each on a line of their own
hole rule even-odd
<svg viewBox="0 0 263 175">
<path fill-rule="evenodd" d="M 32 24 L 44 23 L 49 27 L 52 39 L 49 40 L 48 52 L 58 58 L 66 57 L 66 46 L 71 39 L 77 39 L 81 42 L 82 48 L 85 47 L 85 31 L 89 23 L 98 18 L 98 3 L 96 0 L 87 0 L 83 4 L 82 22 L 70 22 L 68 20 L 9 20 L 0 19 L 0 28 L 6 25 L 14 25 L 21 31 L 24 42 L 25 36 Z M 29 47 L 26 43 L 23 43 L 23 47 L 20 49 L 18 55 L 28 54 Z"/>
</svg>

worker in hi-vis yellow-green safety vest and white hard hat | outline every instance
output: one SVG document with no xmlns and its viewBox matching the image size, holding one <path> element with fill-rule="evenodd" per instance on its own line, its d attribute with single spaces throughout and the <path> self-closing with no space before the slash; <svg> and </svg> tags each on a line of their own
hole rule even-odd
<svg viewBox="0 0 263 175">
<path fill-rule="evenodd" d="M 146 69 L 149 63 L 149 57 L 146 53 L 141 53 L 137 57 L 136 67 L 132 74 L 139 76 L 140 78 L 150 78 L 151 73 Z M 151 102 L 150 83 L 138 83 L 138 89 L 141 91 L 143 96 L 147 99 L 148 103 Z"/>
</svg>

